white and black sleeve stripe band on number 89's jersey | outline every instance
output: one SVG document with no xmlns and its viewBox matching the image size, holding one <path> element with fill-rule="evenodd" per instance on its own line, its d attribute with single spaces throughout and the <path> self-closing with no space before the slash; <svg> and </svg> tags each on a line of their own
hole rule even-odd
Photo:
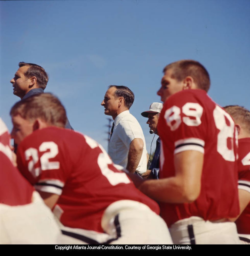
<svg viewBox="0 0 250 256">
<path fill-rule="evenodd" d="M 203 140 L 197 138 L 188 138 L 184 140 L 178 140 L 174 144 L 174 154 L 187 150 L 195 150 L 204 154 L 205 142 Z"/>
</svg>

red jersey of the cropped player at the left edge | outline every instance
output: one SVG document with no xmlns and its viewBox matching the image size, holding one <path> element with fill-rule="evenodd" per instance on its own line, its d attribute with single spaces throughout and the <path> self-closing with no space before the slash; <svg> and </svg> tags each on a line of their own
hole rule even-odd
<svg viewBox="0 0 250 256">
<path fill-rule="evenodd" d="M 0 204 L 29 204 L 34 188 L 11 162 L 12 152 L 9 145 L 10 134 L 0 118 Z"/>
</svg>

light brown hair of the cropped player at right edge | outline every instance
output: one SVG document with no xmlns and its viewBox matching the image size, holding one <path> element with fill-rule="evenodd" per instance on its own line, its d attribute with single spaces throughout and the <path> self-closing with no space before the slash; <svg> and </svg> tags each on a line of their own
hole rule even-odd
<svg viewBox="0 0 250 256">
<path fill-rule="evenodd" d="M 232 116 L 234 122 L 240 124 L 250 135 L 250 111 L 239 105 L 228 105 L 224 109 Z"/>
</svg>

